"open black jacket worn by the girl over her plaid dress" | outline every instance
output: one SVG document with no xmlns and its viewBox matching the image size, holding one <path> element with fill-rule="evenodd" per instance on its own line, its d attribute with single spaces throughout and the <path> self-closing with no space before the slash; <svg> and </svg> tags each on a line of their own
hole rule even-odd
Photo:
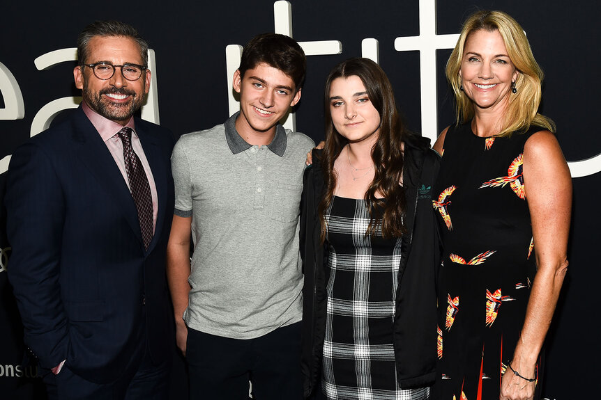
<svg viewBox="0 0 601 400">
<path fill-rule="evenodd" d="M 305 397 L 321 378 L 321 355 L 326 331 L 327 244 L 321 243 L 317 207 L 324 191 L 320 157 L 313 150 L 313 165 L 305 170 L 300 202 L 300 255 L 303 259 L 303 355 Z M 403 389 L 434 383 L 436 365 L 436 278 L 441 246 L 432 207 L 432 191 L 439 155 L 429 140 L 406 138 L 403 186 L 406 195 L 402 257 L 393 324 L 397 378 Z"/>
</svg>

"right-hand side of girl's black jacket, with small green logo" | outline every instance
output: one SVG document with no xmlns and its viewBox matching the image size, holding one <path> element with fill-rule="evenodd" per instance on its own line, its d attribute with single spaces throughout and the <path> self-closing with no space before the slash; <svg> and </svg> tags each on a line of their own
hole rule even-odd
<svg viewBox="0 0 601 400">
<path fill-rule="evenodd" d="M 423 161 L 418 162 L 418 157 Z M 436 271 L 440 262 L 431 198 L 439 158 L 426 149 L 407 161 L 415 161 L 409 165 L 419 175 L 406 191 L 409 205 L 416 208 L 408 209 L 414 216 L 408 216 L 411 232 L 403 238 L 404 273 L 397 289 L 394 325 L 397 379 L 403 389 L 429 386 L 436 378 Z"/>
</svg>

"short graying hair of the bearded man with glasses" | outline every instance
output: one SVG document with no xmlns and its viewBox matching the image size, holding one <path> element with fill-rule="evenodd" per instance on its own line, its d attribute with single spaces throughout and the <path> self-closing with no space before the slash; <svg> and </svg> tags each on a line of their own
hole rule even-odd
<svg viewBox="0 0 601 400">
<path fill-rule="evenodd" d="M 88 57 L 88 45 L 91 38 L 96 36 L 123 36 L 131 38 L 137 42 L 140 47 L 140 56 L 144 62 L 144 67 L 148 67 L 148 49 L 146 40 L 142 39 L 136 29 L 121 21 L 96 21 L 84 28 L 77 38 L 77 60 L 82 64 Z"/>
</svg>

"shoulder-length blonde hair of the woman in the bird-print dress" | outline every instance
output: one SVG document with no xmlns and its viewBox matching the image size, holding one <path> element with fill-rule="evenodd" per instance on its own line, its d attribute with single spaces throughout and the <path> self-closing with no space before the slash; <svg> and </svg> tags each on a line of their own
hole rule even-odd
<svg viewBox="0 0 601 400">
<path fill-rule="evenodd" d="M 470 15 L 464 22 L 457 45 L 447 61 L 446 76 L 455 93 L 457 124 L 468 122 L 474 114 L 471 99 L 461 90 L 462 79 L 459 77 L 459 70 L 463 61 L 465 42 L 469 35 L 476 31 L 499 31 L 505 42 L 508 56 L 519 72 L 515 80 L 517 93 L 510 93 L 508 107 L 501 120 L 499 136 L 509 136 L 514 131 L 524 132 L 531 125 L 554 132 L 554 122 L 538 113 L 542 97 L 542 70 L 534 59 L 522 26 L 502 11 L 481 10 Z"/>
</svg>

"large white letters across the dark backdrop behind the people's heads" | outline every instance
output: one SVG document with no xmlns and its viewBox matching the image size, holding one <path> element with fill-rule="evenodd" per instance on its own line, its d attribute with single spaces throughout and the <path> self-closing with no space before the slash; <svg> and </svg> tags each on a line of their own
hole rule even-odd
<svg viewBox="0 0 601 400">
<path fill-rule="evenodd" d="M 436 35 L 436 0 L 420 0 L 419 3 L 420 35 L 399 37 L 395 39 L 395 50 L 397 51 L 419 51 L 420 52 L 420 84 L 421 84 L 421 109 L 422 112 L 422 134 L 431 140 L 435 140 L 438 134 L 437 97 L 436 97 L 436 50 L 452 49 L 459 35 Z M 292 36 L 292 6 L 288 1 L 275 1 L 273 3 L 273 19 L 276 33 Z M 312 42 L 298 42 L 307 56 L 319 56 L 326 54 L 340 54 L 342 42 L 340 40 L 318 40 Z M 228 45 L 225 49 L 227 65 L 227 86 L 229 114 L 233 114 L 240 108 L 240 104 L 234 97 L 231 89 L 231 79 L 234 71 L 240 63 L 242 47 L 240 45 Z M 379 43 L 374 38 L 366 38 L 361 42 L 361 55 L 379 62 Z M 76 59 L 74 48 L 50 51 L 36 58 L 34 63 L 38 70 L 48 68 L 65 61 Z M 151 122 L 159 123 L 158 74 L 156 70 L 155 53 L 149 49 L 149 69 L 153 72 L 151 90 L 146 103 L 142 106 L 142 118 Z M 0 63 L 0 93 L 3 95 L 5 107 L 0 109 L 0 120 L 20 120 L 24 118 L 25 107 L 19 84 L 8 67 Z M 30 136 L 35 136 L 50 126 L 54 117 L 63 110 L 77 107 L 81 97 L 62 97 L 43 106 L 31 123 Z M 434 116 L 434 118 L 433 118 Z M 287 115 L 284 127 L 295 130 L 296 118 L 294 113 Z M 0 174 L 5 173 L 8 168 L 10 155 L 0 159 Z M 584 177 L 601 172 L 601 153 L 591 158 L 569 161 L 572 177 Z"/>
</svg>

